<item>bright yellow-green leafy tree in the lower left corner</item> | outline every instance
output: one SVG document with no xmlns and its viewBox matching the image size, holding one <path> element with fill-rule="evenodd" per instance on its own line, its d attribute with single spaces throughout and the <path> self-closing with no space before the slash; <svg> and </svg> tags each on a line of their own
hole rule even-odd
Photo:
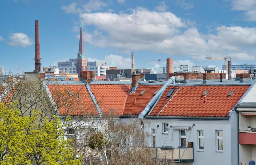
<svg viewBox="0 0 256 165">
<path fill-rule="evenodd" d="M 41 121 L 38 111 L 23 116 L 17 101 L 7 108 L 0 103 L 0 164 L 81 164 L 66 140 L 57 116 Z"/>
</svg>

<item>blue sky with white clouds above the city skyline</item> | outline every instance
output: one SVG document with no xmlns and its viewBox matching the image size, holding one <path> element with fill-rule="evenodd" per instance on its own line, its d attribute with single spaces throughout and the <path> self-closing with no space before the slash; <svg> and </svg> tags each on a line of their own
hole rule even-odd
<svg viewBox="0 0 256 165">
<path fill-rule="evenodd" d="M 88 61 L 118 68 L 255 64 L 255 0 L 6 0 L 0 2 L 0 66 L 33 71 L 35 20 L 42 67 L 76 58 L 82 18 Z M 158 63 L 158 59 L 161 61 Z"/>
</svg>

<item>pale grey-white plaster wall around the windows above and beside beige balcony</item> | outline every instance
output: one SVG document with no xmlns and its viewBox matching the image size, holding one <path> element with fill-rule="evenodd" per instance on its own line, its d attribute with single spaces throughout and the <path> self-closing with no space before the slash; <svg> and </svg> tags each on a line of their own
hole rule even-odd
<svg viewBox="0 0 256 165">
<path fill-rule="evenodd" d="M 129 119 L 122 118 L 123 122 L 128 122 Z M 144 119 L 145 120 L 145 119 Z M 169 134 L 162 134 L 162 123 L 169 123 L 169 126 L 195 126 L 187 131 L 187 142 L 194 142 L 194 163 L 193 165 L 215 165 L 225 164 L 232 165 L 231 163 L 231 144 L 237 144 L 237 138 L 231 138 L 231 125 L 230 121 L 202 121 L 202 120 L 171 120 L 171 119 L 150 119 L 150 125 L 144 130 L 150 131 L 150 128 L 156 129 L 156 147 L 172 146 L 178 147 L 180 145 L 180 136 L 178 130 L 169 130 Z M 157 125 L 159 127 L 157 128 Z M 198 150 L 198 136 L 197 130 L 204 131 L 204 151 Z M 216 152 L 216 134 L 215 130 L 223 130 L 223 152 Z M 189 134 L 191 135 L 189 137 Z M 234 139 L 234 140 L 233 140 Z M 150 144 L 150 142 L 148 142 Z M 237 145 L 236 145 L 237 148 Z M 237 160 L 237 153 L 232 156 L 234 161 Z M 236 159 L 236 160 L 235 160 Z"/>
</svg>

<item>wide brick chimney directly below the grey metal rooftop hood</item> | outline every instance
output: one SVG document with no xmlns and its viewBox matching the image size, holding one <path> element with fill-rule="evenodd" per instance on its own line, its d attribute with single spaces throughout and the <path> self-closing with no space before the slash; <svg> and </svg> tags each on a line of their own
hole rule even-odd
<svg viewBox="0 0 256 165">
<path fill-rule="evenodd" d="M 226 73 L 203 73 L 203 83 L 225 82 Z"/>
</svg>

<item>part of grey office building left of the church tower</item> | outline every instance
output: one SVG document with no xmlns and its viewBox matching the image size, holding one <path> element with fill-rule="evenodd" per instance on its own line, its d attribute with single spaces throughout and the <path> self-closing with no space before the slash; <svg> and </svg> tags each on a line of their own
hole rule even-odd
<svg viewBox="0 0 256 165">
<path fill-rule="evenodd" d="M 58 62 L 58 68 L 61 73 L 77 73 L 77 59 L 70 58 L 66 62 Z"/>
</svg>

